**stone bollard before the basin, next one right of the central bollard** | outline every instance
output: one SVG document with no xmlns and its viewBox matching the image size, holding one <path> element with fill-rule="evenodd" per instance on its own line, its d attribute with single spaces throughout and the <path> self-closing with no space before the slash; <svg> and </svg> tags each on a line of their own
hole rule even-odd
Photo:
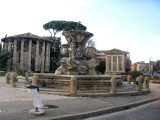
<svg viewBox="0 0 160 120">
<path fill-rule="evenodd" d="M 117 82 L 116 78 L 112 77 L 111 80 L 111 87 L 110 87 L 110 94 L 116 94 L 117 93 Z"/>
</svg>

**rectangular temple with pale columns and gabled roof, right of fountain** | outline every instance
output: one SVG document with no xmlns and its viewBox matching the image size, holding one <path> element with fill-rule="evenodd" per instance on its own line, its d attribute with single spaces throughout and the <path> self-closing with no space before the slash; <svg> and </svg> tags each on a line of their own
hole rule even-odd
<svg viewBox="0 0 160 120">
<path fill-rule="evenodd" d="M 97 51 L 96 58 L 106 61 L 105 74 L 120 74 L 131 68 L 130 53 L 119 49 Z"/>
</svg>

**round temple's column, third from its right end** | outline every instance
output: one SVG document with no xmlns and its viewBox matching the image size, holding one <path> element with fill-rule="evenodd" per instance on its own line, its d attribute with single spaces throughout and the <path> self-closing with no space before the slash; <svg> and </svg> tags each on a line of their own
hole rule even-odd
<svg viewBox="0 0 160 120">
<path fill-rule="evenodd" d="M 36 41 L 35 71 L 39 71 L 39 40 Z"/>
</svg>

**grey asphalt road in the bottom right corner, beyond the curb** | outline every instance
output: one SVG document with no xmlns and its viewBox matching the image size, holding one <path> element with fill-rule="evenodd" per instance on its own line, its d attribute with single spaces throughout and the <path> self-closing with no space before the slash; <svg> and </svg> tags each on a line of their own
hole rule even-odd
<svg viewBox="0 0 160 120">
<path fill-rule="evenodd" d="M 160 120 L 160 100 L 133 109 L 85 120 Z"/>
</svg>

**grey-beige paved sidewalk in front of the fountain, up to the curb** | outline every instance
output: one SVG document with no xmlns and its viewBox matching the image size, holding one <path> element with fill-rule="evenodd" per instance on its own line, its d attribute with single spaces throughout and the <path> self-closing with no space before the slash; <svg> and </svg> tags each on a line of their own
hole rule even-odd
<svg viewBox="0 0 160 120">
<path fill-rule="evenodd" d="M 33 109 L 33 100 L 27 89 L 11 88 L 0 78 L 0 119 L 4 120 L 54 120 L 83 119 L 135 107 L 160 99 L 160 84 L 150 84 L 151 93 L 140 96 L 118 97 L 67 97 L 41 94 L 44 105 L 57 108 L 45 109 L 45 115 L 28 115 Z M 156 98 L 156 99 L 155 99 Z M 9 99 L 9 100 L 8 100 Z"/>
</svg>

